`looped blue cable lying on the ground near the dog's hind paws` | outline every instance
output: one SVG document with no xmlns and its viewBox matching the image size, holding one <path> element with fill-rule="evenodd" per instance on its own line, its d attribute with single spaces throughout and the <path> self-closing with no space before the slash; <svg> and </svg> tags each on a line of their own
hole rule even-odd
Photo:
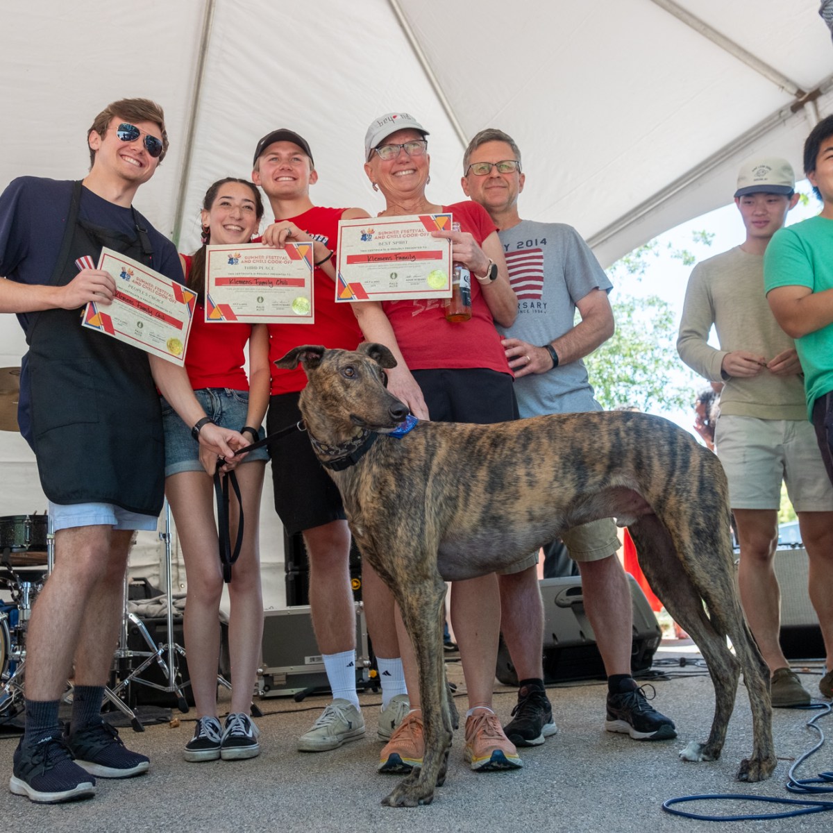
<svg viewBox="0 0 833 833">
<path fill-rule="evenodd" d="M 795 793 L 809 795 L 833 794 L 833 772 L 820 772 L 816 778 L 796 779 L 795 773 L 801 764 L 811 755 L 824 746 L 825 735 L 821 727 L 816 726 L 816 721 L 831 713 L 830 703 L 816 703 L 812 706 L 800 706 L 804 710 L 819 710 L 819 713 L 806 722 L 808 728 L 818 732 L 819 741 L 810 751 L 807 751 L 790 767 L 787 773 L 788 781 L 786 789 Z M 826 785 L 826 786 L 816 786 Z M 690 813 L 684 810 L 677 810 L 674 805 L 683 804 L 687 801 L 764 801 L 768 804 L 781 804 L 795 809 L 782 811 L 780 813 L 744 813 L 737 816 L 706 816 L 702 813 Z M 770 796 L 745 796 L 742 793 L 723 793 L 703 796 L 681 796 L 681 798 L 670 798 L 662 803 L 662 809 L 672 816 L 684 816 L 686 819 L 697 819 L 698 821 L 760 821 L 763 819 L 788 819 L 793 816 L 808 816 L 811 813 L 824 813 L 833 811 L 833 801 L 810 801 L 795 798 L 771 798 Z"/>
</svg>

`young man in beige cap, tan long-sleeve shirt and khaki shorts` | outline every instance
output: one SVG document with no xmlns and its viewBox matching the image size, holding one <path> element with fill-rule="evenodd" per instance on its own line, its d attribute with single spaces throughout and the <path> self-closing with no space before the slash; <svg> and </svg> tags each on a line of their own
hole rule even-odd
<svg viewBox="0 0 833 833">
<path fill-rule="evenodd" d="M 795 185 L 784 159 L 754 159 L 741 167 L 735 204 L 746 240 L 695 267 L 677 340 L 687 365 L 710 382 L 725 383 L 715 450 L 729 480 L 741 546 L 741 601 L 770 667 L 773 706 L 810 702 L 778 640 L 781 591 L 773 559 L 781 481 L 796 509 L 807 556 L 816 565 L 810 597 L 823 631 L 831 625 L 825 600 L 833 597 L 833 489 L 806 420 L 795 342 L 778 326 L 764 296 L 764 252 L 798 202 Z M 712 325 L 720 349 L 707 343 Z"/>
</svg>

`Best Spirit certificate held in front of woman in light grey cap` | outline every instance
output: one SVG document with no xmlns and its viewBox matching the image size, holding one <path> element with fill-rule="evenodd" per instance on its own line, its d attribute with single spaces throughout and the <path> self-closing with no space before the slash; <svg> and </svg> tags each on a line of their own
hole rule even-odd
<svg viewBox="0 0 833 833">
<path fill-rule="evenodd" d="M 336 301 L 451 297 L 451 214 L 338 223 Z"/>
</svg>

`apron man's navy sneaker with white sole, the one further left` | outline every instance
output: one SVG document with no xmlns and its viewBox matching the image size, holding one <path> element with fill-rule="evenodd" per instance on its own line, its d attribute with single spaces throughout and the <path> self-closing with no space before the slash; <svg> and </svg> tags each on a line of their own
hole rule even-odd
<svg viewBox="0 0 833 833">
<path fill-rule="evenodd" d="M 36 804 L 57 804 L 92 798 L 96 780 L 72 760 L 62 737 L 46 737 L 34 746 L 24 746 L 21 738 L 8 788 Z"/>
</svg>

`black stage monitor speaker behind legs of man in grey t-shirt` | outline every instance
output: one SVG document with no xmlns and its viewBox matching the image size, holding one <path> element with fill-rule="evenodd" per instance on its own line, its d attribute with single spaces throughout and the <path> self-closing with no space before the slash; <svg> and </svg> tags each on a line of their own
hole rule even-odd
<svg viewBox="0 0 833 833">
<path fill-rule="evenodd" d="M 539 583 L 544 600 L 544 681 L 604 678 L 605 666 L 596 646 L 596 635 L 584 610 L 581 577 L 545 578 Z M 633 576 L 628 576 L 628 584 L 633 601 L 631 671 L 636 673 L 651 667 L 662 634 L 654 611 Z M 515 667 L 502 639 L 496 676 L 506 686 L 517 685 Z"/>
</svg>

